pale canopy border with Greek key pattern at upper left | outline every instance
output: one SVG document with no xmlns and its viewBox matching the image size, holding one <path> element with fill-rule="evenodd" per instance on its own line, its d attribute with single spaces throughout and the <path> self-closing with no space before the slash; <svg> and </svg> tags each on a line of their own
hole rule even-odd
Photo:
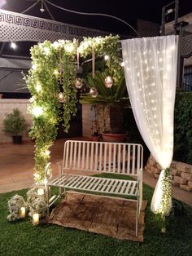
<svg viewBox="0 0 192 256">
<path fill-rule="evenodd" d="M 105 36 L 109 33 L 0 9 L 0 42 Z"/>
</svg>

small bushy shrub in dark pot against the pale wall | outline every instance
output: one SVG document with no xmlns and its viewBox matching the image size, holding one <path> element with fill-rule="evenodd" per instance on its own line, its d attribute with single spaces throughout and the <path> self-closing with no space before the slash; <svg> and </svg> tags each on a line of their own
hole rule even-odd
<svg viewBox="0 0 192 256">
<path fill-rule="evenodd" d="M 27 130 L 28 124 L 18 108 L 6 115 L 3 120 L 3 131 L 12 135 L 13 143 L 22 143 L 21 132 Z"/>
</svg>

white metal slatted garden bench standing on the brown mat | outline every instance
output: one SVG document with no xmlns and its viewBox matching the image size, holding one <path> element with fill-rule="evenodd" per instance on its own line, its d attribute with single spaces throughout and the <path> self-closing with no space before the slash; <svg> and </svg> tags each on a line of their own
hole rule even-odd
<svg viewBox="0 0 192 256">
<path fill-rule="evenodd" d="M 66 189 L 76 189 L 82 192 L 134 196 L 128 200 L 137 201 L 137 236 L 138 218 L 142 207 L 142 156 L 143 148 L 140 144 L 68 140 L 64 143 L 63 161 L 59 162 L 59 177 L 50 181 L 48 187 L 63 188 L 64 192 Z M 128 179 L 66 174 L 65 170 L 125 174 Z M 60 196 L 61 194 L 60 189 Z M 49 205 L 53 201 L 55 200 L 50 201 Z"/>
</svg>

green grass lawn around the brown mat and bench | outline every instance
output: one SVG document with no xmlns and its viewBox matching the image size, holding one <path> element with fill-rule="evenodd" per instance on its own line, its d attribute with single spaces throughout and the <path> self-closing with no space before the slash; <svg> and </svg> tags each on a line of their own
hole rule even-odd
<svg viewBox="0 0 192 256">
<path fill-rule="evenodd" d="M 119 178 L 119 177 L 118 177 Z M 160 233 L 160 223 L 150 211 L 153 189 L 144 185 L 143 199 L 148 201 L 144 242 L 119 241 L 114 238 L 51 224 L 33 226 L 30 218 L 7 221 L 7 201 L 27 190 L 0 194 L 0 255 L 192 255 L 192 208 L 184 205 L 184 214 L 167 218 L 167 232 Z"/>
</svg>

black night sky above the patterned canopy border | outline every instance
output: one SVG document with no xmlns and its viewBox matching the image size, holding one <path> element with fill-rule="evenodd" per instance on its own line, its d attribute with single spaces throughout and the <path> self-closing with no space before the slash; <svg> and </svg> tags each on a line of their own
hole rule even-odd
<svg viewBox="0 0 192 256">
<path fill-rule="evenodd" d="M 136 28 L 137 19 L 161 23 L 162 7 L 172 2 L 170 0 L 48 0 L 54 4 L 73 11 L 97 12 L 115 15 Z M 0 7 L 7 11 L 22 12 L 32 6 L 37 0 L 0 0 Z M 76 24 L 93 29 L 101 29 L 112 33 L 129 33 L 129 27 L 118 20 L 101 16 L 76 15 L 52 7 L 46 2 L 50 13 L 55 20 L 68 24 Z M 192 0 L 180 0 L 179 16 L 192 11 Z M 27 15 L 36 15 L 50 19 L 47 11 L 41 14 L 41 1 L 26 12 Z"/>
</svg>

